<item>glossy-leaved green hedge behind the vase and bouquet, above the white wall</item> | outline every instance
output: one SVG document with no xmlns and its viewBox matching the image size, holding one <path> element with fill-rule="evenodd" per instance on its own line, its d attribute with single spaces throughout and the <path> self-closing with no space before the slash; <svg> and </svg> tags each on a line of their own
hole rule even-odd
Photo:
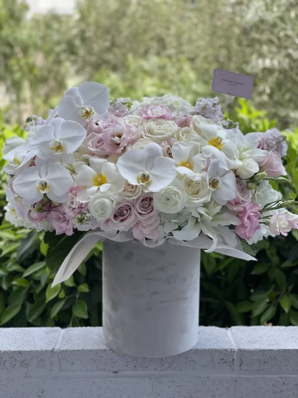
<svg viewBox="0 0 298 398">
<path fill-rule="evenodd" d="M 235 114 L 241 130 L 265 131 L 275 125 L 264 112 L 239 100 Z M 0 147 L 22 130 L 0 124 Z M 280 188 L 289 199 L 298 193 L 298 130 L 288 134 L 287 170 L 291 185 Z M 2 140 L 2 141 L 1 141 Z M 0 162 L 2 167 L 4 162 Z M 0 181 L 5 182 L 3 172 Z M 46 267 L 43 232 L 15 228 L 3 218 L 0 187 L 0 326 L 100 326 L 101 250 L 98 244 L 68 281 L 52 289 Z M 294 209 L 292 209 L 294 211 Z M 202 252 L 200 323 L 231 325 L 298 325 L 298 237 L 259 243 L 258 262 L 244 262 Z"/>
</svg>

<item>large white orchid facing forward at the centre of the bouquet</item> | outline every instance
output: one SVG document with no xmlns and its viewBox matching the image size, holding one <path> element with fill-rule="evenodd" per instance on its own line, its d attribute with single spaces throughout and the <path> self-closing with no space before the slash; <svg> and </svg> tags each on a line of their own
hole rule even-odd
<svg viewBox="0 0 298 398">
<path fill-rule="evenodd" d="M 132 185 L 141 185 L 145 192 L 162 190 L 177 174 L 173 161 L 163 157 L 161 147 L 154 142 L 124 153 L 117 166 L 122 177 Z"/>
</svg>

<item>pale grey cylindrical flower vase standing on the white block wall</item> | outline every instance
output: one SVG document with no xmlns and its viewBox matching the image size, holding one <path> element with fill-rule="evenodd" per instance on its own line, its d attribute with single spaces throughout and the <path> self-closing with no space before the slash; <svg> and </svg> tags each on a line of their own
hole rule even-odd
<svg viewBox="0 0 298 398">
<path fill-rule="evenodd" d="M 200 250 L 103 244 L 103 334 L 112 350 L 165 357 L 198 340 Z"/>
</svg>

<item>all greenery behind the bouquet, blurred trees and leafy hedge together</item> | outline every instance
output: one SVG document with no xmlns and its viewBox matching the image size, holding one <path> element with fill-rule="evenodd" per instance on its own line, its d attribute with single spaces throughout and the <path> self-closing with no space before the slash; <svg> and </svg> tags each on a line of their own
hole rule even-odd
<svg viewBox="0 0 298 398">
<path fill-rule="evenodd" d="M 284 131 L 291 184 L 274 188 L 297 198 L 297 1 L 79 0 L 74 15 L 26 12 L 22 1 L 0 0 L 0 159 L 5 139 L 23 136 L 26 117 L 46 116 L 68 86 L 95 80 L 112 97 L 172 93 L 194 103 L 214 96 L 219 67 L 255 77 L 251 101 L 220 102 L 244 133 Z M 0 326 L 101 325 L 101 244 L 52 288 L 47 236 L 4 220 L 5 180 L 0 171 Z M 200 324 L 298 325 L 297 238 L 260 242 L 258 262 L 203 252 Z"/>
</svg>

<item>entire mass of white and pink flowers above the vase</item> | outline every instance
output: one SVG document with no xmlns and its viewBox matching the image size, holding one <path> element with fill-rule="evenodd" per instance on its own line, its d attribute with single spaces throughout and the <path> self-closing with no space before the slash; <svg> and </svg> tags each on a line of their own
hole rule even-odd
<svg viewBox="0 0 298 398">
<path fill-rule="evenodd" d="M 110 101 L 106 87 L 88 82 L 26 129 L 26 140 L 4 147 L 6 219 L 15 225 L 125 232 L 150 246 L 205 235 L 208 252 L 298 227 L 269 184 L 286 175 L 283 135 L 244 136 L 217 98 Z"/>
</svg>

